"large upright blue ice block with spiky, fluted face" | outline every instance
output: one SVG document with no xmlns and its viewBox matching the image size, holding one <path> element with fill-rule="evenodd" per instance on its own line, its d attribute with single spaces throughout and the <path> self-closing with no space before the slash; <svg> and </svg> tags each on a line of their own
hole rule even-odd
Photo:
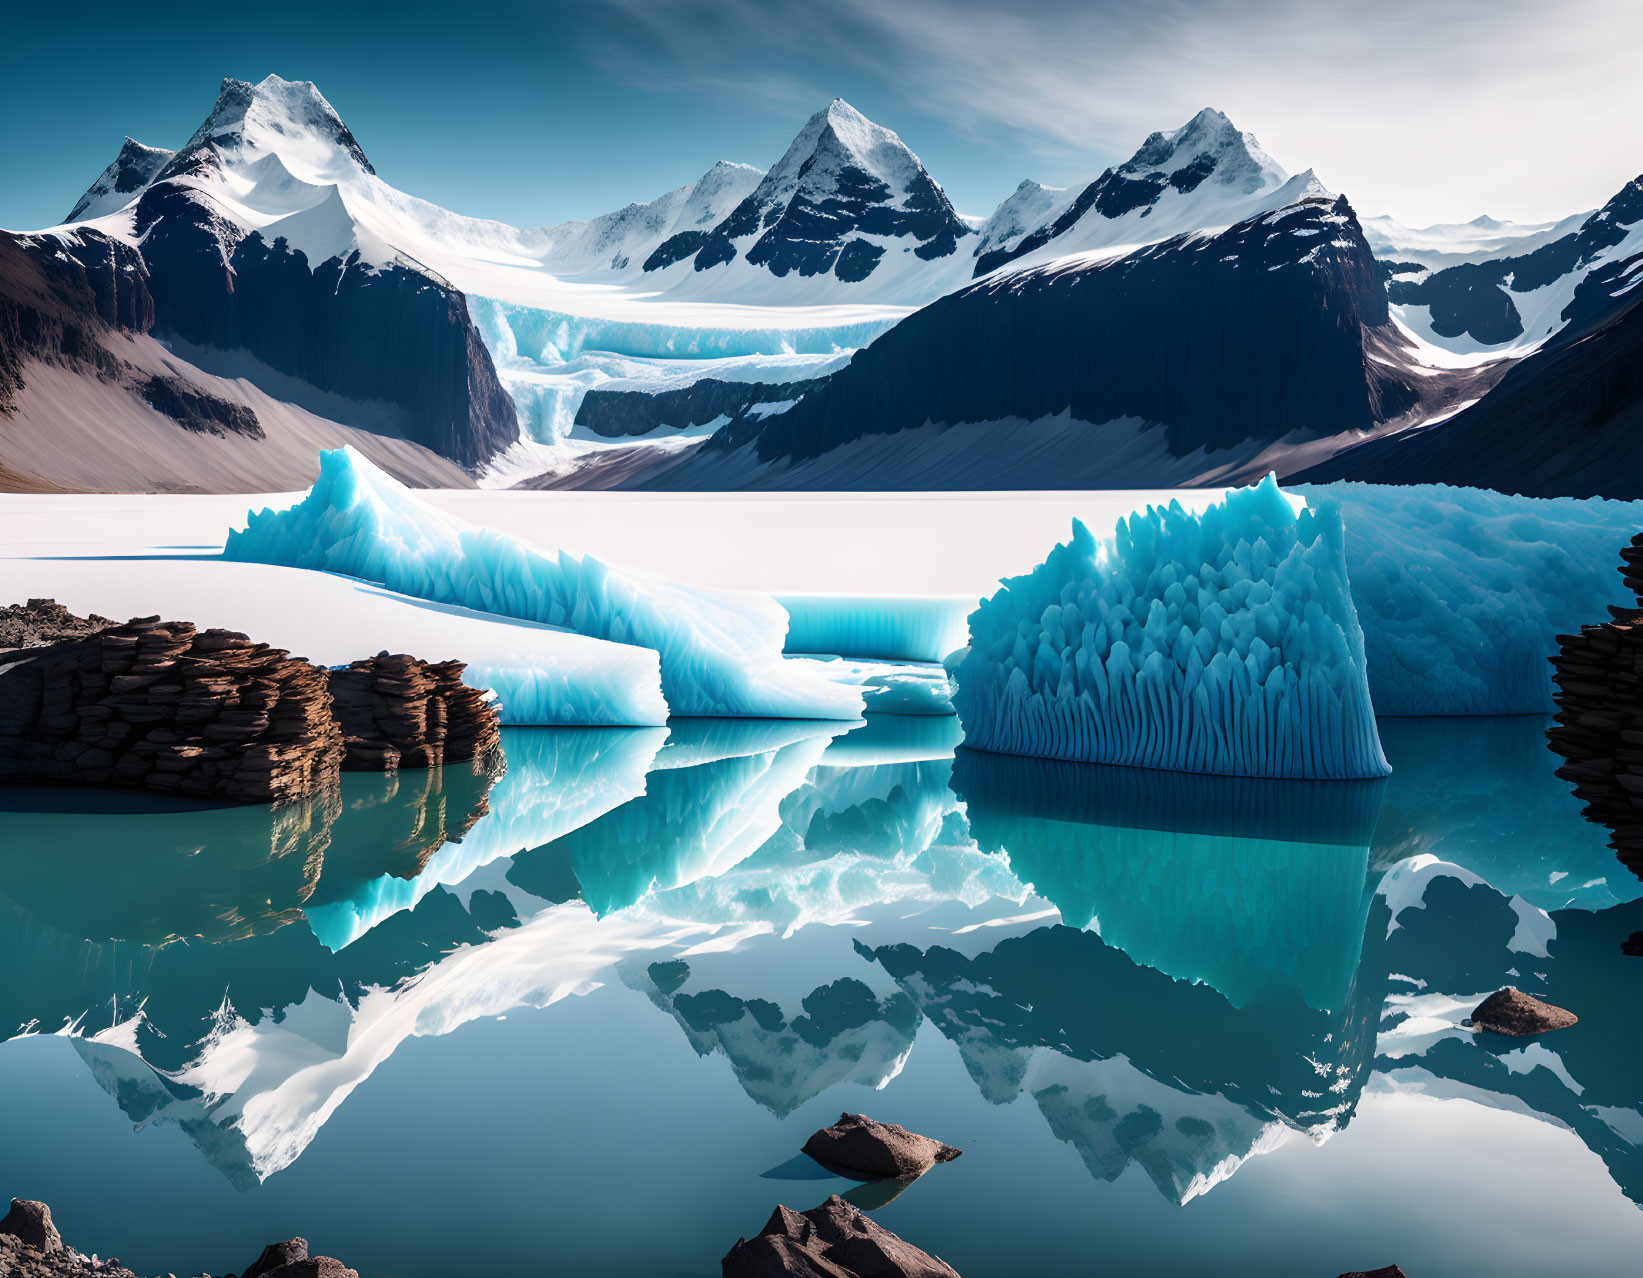
<svg viewBox="0 0 1643 1278">
<path fill-rule="evenodd" d="M 1341 513 L 1268 476 L 1070 542 L 969 616 L 953 705 L 1002 754 L 1244 777 L 1378 777 Z"/>
</svg>

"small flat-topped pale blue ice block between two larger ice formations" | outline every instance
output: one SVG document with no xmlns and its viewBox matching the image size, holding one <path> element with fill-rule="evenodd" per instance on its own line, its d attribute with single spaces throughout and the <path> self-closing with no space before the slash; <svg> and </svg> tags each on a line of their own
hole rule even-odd
<svg viewBox="0 0 1643 1278">
<path fill-rule="evenodd" d="M 789 652 L 938 662 L 964 646 L 961 598 L 882 595 L 779 595 L 787 609 Z"/>
</svg>

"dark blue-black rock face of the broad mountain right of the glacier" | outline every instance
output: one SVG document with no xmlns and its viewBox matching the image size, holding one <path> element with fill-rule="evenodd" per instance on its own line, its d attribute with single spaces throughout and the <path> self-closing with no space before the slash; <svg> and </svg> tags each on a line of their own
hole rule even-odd
<svg viewBox="0 0 1643 1278">
<path fill-rule="evenodd" d="M 757 463 L 798 463 L 927 424 L 1056 414 L 1155 424 L 1160 458 L 1252 440 L 1254 455 L 1415 409 L 1428 389 L 1400 370 L 1397 342 L 1352 209 L 1306 199 L 1219 235 L 941 297 L 787 412 L 720 430 L 680 473 L 711 481 L 739 448 Z"/>
</svg>

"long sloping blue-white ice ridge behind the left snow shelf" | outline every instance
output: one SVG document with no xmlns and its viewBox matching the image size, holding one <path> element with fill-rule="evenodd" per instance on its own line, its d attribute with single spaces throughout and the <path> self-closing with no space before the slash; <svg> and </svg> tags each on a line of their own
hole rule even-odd
<svg viewBox="0 0 1643 1278">
<path fill-rule="evenodd" d="M 769 596 L 675 585 L 467 524 L 417 501 L 353 448 L 320 453 L 307 496 L 251 513 L 228 534 L 223 557 L 343 573 L 654 649 L 674 715 L 854 719 L 863 708 L 859 688 L 782 659 L 787 613 Z"/>
</svg>

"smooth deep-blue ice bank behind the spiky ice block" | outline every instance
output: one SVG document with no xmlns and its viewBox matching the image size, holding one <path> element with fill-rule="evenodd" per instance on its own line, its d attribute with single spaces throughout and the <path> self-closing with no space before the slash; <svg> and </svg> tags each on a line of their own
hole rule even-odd
<svg viewBox="0 0 1643 1278">
<path fill-rule="evenodd" d="M 1553 710 L 1558 636 L 1635 608 L 1617 572 L 1643 501 L 1447 485 L 1296 486 L 1336 501 L 1380 715 Z"/>
</svg>

